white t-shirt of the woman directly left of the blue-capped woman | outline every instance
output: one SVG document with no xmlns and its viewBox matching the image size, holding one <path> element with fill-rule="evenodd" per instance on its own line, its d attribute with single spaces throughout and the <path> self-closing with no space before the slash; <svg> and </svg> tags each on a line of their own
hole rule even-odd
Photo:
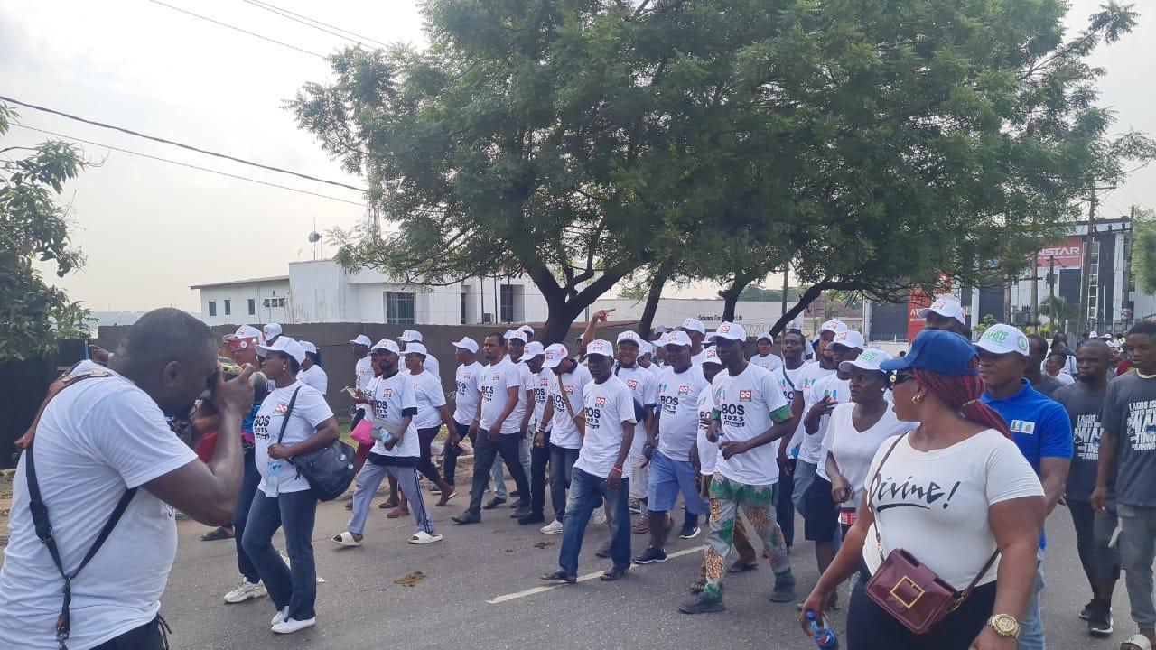
<svg viewBox="0 0 1156 650">
<path fill-rule="evenodd" d="M 895 411 L 888 404 L 883 416 L 879 419 L 866 431 L 855 429 L 852 419 L 855 409 L 854 402 L 840 404 L 831 413 L 831 421 L 827 427 L 827 436 L 823 437 L 823 473 L 827 473 L 827 455 L 835 456 L 835 461 L 839 464 L 839 473 L 847 479 L 847 483 L 855 490 L 851 503 L 859 507 L 862 496 L 862 486 L 867 482 L 867 468 L 875 458 L 883 441 L 905 434 L 916 428 L 911 422 L 902 422 L 895 416 Z"/>
</svg>

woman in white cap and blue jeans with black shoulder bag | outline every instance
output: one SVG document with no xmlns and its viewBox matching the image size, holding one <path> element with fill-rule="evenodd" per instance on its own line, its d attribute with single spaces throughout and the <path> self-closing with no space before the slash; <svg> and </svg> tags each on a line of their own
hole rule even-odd
<svg viewBox="0 0 1156 650">
<path fill-rule="evenodd" d="M 261 371 L 276 390 L 266 396 L 253 420 L 254 461 L 261 482 L 253 495 L 242 545 L 277 610 L 273 631 L 290 634 L 317 622 L 312 541 L 317 497 L 309 481 L 297 474 L 291 459 L 338 440 L 338 421 L 325 397 L 297 379 L 305 359 L 299 342 L 281 335 L 276 342 L 258 349 L 265 353 Z M 273 547 L 277 529 L 284 531 L 291 568 Z"/>
</svg>

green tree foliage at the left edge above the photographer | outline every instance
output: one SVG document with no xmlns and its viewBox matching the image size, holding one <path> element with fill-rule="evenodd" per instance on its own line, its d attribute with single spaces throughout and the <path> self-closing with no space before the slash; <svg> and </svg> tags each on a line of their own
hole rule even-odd
<svg viewBox="0 0 1156 650">
<path fill-rule="evenodd" d="M 13 117 L 0 104 L 0 136 Z M 80 153 L 65 142 L 0 146 L 0 361 L 50 354 L 57 339 L 87 335 L 89 310 L 47 285 L 34 266 L 34 260 L 54 264 L 62 278 L 83 265 L 68 241 L 67 210 L 57 200 L 83 167 Z"/>
</svg>

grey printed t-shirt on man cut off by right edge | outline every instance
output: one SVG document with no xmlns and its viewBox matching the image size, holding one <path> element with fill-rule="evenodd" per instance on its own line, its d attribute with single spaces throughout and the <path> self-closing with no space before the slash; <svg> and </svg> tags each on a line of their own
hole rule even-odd
<svg viewBox="0 0 1156 650">
<path fill-rule="evenodd" d="M 1129 370 L 1112 379 L 1101 422 L 1119 436 L 1117 501 L 1156 508 L 1156 378 L 1143 379 Z"/>
</svg>

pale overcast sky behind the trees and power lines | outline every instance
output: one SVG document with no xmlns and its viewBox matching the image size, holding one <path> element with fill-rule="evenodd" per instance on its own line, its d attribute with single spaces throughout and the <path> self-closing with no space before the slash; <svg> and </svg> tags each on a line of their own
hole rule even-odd
<svg viewBox="0 0 1156 650">
<path fill-rule="evenodd" d="M 242 0 L 164 0 L 318 53 L 348 44 Z M 381 42 L 423 44 L 409 0 L 274 0 L 276 6 Z M 1069 24 L 1099 5 L 1075 0 Z M 1142 6 L 1142 5 L 1141 5 Z M 1101 47 L 1107 68 L 1102 103 L 1117 111 L 1117 131 L 1156 134 L 1156 12 L 1142 15 L 1124 42 Z M 1147 45 L 1146 45 L 1147 44 Z M 0 0 L 0 95 L 89 119 L 179 140 L 205 149 L 362 186 L 297 130 L 282 109 L 306 81 L 329 75 L 325 61 L 180 14 L 148 0 Z M 72 138 L 208 167 L 301 190 L 360 201 L 357 192 L 267 172 L 21 109 L 20 123 Z M 47 136 L 13 127 L 5 145 Z M 266 187 L 83 145 L 103 161 L 67 185 L 74 241 L 87 267 L 60 285 L 94 310 L 175 305 L 198 311 L 190 285 L 283 275 L 287 263 L 312 259 L 313 229 L 353 226 L 364 207 Z M 1156 169 L 1103 197 L 1105 214 L 1156 206 Z M 327 250 L 328 254 L 332 249 Z M 698 287 L 683 296 L 710 296 Z"/>
</svg>

